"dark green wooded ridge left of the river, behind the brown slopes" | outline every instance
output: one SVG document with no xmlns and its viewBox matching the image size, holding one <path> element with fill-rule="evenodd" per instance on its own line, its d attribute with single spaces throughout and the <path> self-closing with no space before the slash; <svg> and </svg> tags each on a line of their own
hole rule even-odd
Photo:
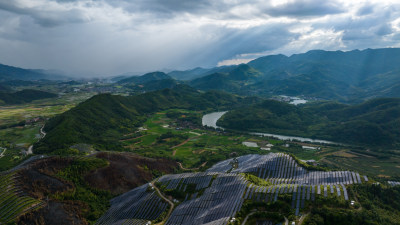
<svg viewBox="0 0 400 225">
<path fill-rule="evenodd" d="M 216 91 L 201 93 L 185 85 L 129 97 L 96 95 L 50 119 L 44 128 L 47 135 L 34 151 L 61 153 L 77 143 L 117 150 L 122 148 L 118 142 L 121 134 L 135 131 L 148 114 L 170 108 L 217 110 L 255 101 Z"/>
</svg>

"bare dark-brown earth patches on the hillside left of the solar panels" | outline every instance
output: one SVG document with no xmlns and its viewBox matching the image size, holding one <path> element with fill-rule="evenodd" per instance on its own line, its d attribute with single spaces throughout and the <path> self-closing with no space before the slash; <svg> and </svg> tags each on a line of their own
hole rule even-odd
<svg viewBox="0 0 400 225">
<path fill-rule="evenodd" d="M 161 174 L 173 173 L 178 164 L 168 159 L 152 159 L 131 153 L 97 153 L 90 157 L 105 159 L 108 166 L 90 171 L 85 181 L 93 188 L 121 194 Z M 45 202 L 38 210 L 25 213 L 17 224 L 87 224 L 83 212 L 90 210 L 84 202 L 60 201 L 52 198 L 57 193 L 73 191 L 75 185 L 56 174 L 74 161 L 72 157 L 49 157 L 38 160 L 18 172 L 23 192 Z"/>
</svg>

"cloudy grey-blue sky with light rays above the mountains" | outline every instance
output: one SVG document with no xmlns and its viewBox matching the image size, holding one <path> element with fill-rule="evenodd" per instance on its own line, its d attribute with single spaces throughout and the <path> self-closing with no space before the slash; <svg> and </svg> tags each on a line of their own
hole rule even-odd
<svg viewBox="0 0 400 225">
<path fill-rule="evenodd" d="M 78 76 L 400 47 L 398 0 L 0 0 L 0 63 Z"/>
</svg>

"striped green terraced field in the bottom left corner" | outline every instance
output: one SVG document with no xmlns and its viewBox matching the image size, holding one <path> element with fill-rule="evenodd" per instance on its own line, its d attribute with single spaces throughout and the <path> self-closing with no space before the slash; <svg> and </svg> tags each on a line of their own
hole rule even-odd
<svg viewBox="0 0 400 225">
<path fill-rule="evenodd" d="M 12 222 L 19 215 L 42 205 L 23 194 L 15 183 L 15 176 L 15 173 L 0 175 L 0 224 Z"/>
</svg>

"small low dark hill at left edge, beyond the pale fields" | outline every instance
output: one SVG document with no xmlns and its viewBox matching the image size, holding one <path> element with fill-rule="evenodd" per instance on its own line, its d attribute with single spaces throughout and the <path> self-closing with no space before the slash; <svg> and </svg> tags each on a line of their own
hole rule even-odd
<svg viewBox="0 0 400 225">
<path fill-rule="evenodd" d="M 57 97 L 56 94 L 39 90 L 31 90 L 31 89 L 25 89 L 14 93 L 0 92 L 0 105 L 23 104 L 38 99 L 55 98 L 55 97 Z"/>
</svg>

